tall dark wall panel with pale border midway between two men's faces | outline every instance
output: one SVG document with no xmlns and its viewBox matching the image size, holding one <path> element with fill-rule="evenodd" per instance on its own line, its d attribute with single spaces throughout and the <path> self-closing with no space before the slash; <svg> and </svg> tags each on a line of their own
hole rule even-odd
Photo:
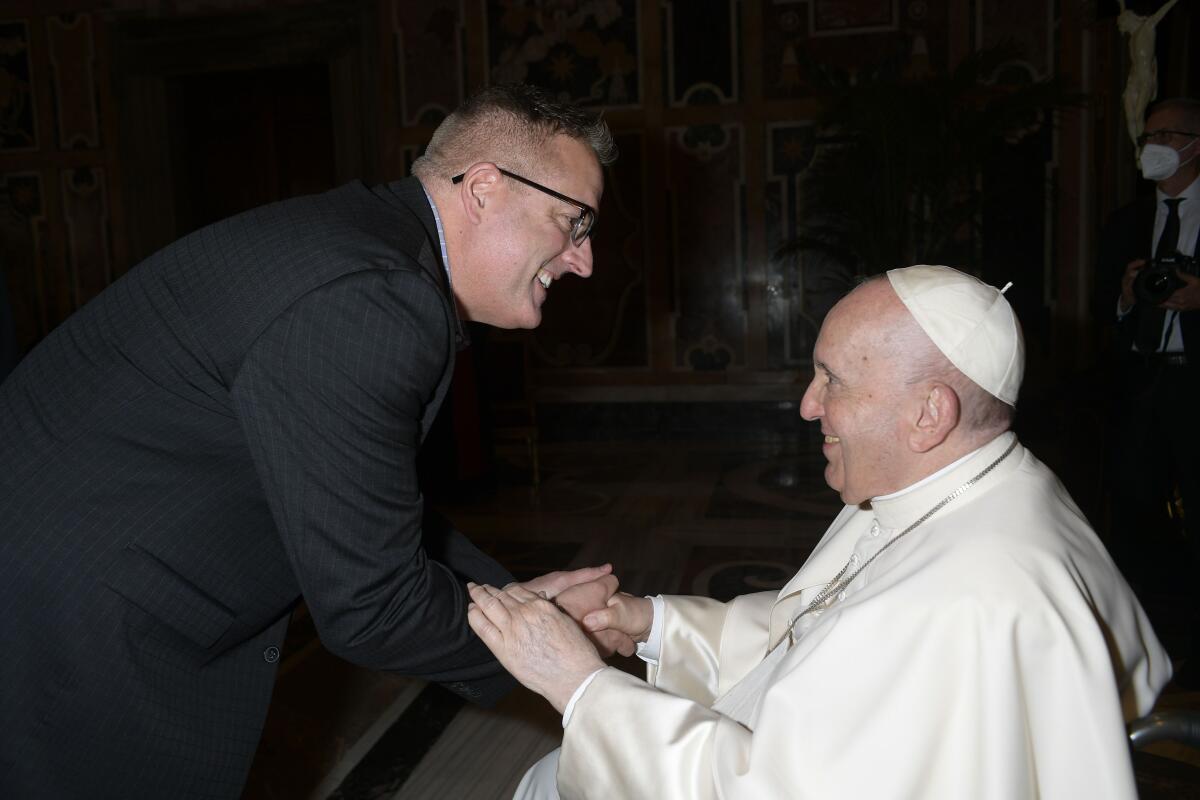
<svg viewBox="0 0 1200 800">
<path fill-rule="evenodd" d="M 742 126 L 668 128 L 666 144 L 674 367 L 743 366 L 749 319 Z"/>
</svg>

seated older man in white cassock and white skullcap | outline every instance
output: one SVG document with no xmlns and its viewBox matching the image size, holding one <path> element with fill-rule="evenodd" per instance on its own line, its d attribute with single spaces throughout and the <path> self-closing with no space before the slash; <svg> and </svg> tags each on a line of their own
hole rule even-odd
<svg viewBox="0 0 1200 800">
<path fill-rule="evenodd" d="M 1126 723 L 1170 661 L 1062 485 L 1008 429 L 1003 294 L 892 270 L 829 313 L 800 413 L 847 504 L 800 571 L 728 603 L 616 594 L 647 679 L 520 587 L 472 627 L 564 712 L 518 798 L 1135 798 Z"/>
</svg>

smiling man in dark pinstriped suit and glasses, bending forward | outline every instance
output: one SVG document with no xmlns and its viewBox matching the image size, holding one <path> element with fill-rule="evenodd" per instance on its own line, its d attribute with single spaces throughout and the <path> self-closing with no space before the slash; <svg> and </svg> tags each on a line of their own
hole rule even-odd
<svg viewBox="0 0 1200 800">
<path fill-rule="evenodd" d="M 191 234 L 22 361 L 0 386 L 0 796 L 236 798 L 301 597 L 358 664 L 482 703 L 511 686 L 464 584 L 512 577 L 426 518 L 414 461 L 462 320 L 534 327 L 590 273 L 613 158 L 596 118 L 486 90 L 418 178 Z M 570 604 L 606 572 L 526 585 Z"/>
</svg>

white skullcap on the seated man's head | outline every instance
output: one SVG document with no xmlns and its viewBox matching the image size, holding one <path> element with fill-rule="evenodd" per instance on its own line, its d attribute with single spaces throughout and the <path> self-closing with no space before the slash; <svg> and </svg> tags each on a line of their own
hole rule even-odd
<svg viewBox="0 0 1200 800">
<path fill-rule="evenodd" d="M 888 281 L 959 372 L 994 397 L 1016 405 L 1025 375 L 1025 339 L 1004 299 L 1007 285 L 996 289 L 949 266 L 925 264 L 888 270 Z"/>
</svg>

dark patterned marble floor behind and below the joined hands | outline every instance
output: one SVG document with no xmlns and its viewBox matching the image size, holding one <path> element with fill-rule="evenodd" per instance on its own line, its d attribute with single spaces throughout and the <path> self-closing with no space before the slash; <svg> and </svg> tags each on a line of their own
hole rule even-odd
<svg viewBox="0 0 1200 800">
<path fill-rule="evenodd" d="M 769 589 L 794 572 L 840 509 L 811 437 L 547 444 L 540 462 L 538 488 L 517 451 L 500 459 L 494 486 L 444 506 L 522 578 L 611 561 L 631 593 Z M 1170 648 L 1183 622 L 1169 599 L 1160 606 Z M 641 672 L 632 658 L 614 663 Z M 1200 693 L 1172 686 L 1160 706 L 1200 709 Z M 440 687 L 346 664 L 322 649 L 301 608 L 244 798 L 506 799 L 560 734 L 553 710 L 524 690 L 484 711 Z M 1188 786 L 1200 774 L 1194 751 L 1153 752 L 1139 757 L 1139 772 L 1168 787 L 1154 796 L 1200 796 Z"/>
</svg>

